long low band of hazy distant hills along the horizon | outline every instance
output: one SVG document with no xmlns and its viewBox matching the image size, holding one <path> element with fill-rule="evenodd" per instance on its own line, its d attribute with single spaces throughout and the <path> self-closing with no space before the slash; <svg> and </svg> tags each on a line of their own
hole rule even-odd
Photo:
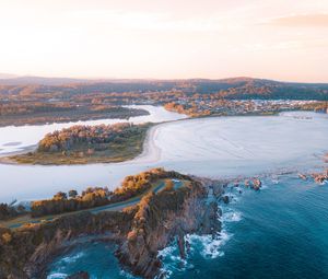
<svg viewBox="0 0 328 279">
<path fill-rule="evenodd" d="M 62 96 L 92 93 L 144 93 L 179 91 L 186 94 L 219 94 L 224 98 L 327 100 L 328 83 L 295 83 L 266 79 L 221 80 L 87 80 L 19 77 L 0 80 L 0 94 L 60 93 Z"/>
</svg>

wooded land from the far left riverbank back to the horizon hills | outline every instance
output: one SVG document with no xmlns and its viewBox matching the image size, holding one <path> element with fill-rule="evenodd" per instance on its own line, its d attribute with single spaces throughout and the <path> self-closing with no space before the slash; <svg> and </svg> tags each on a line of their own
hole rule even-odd
<svg viewBox="0 0 328 279">
<path fill-rule="evenodd" d="M 148 114 L 121 105 L 171 102 L 188 104 L 209 100 L 328 100 L 328 84 L 288 83 L 235 78 L 225 80 L 107 81 L 70 84 L 33 84 L 26 80 L 0 81 L 0 126 L 45 124 L 99 118 L 128 118 Z M 218 104 L 219 105 L 219 104 Z M 180 107 L 177 107 L 181 111 Z M 176 111 L 176 109 L 174 109 Z M 204 112 L 202 112 L 203 114 Z M 5 117 L 2 117 L 5 116 Z"/>
</svg>

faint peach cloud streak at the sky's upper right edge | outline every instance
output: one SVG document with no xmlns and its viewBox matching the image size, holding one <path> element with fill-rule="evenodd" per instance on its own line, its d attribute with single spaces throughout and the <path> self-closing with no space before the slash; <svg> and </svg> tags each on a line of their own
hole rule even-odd
<svg viewBox="0 0 328 279">
<path fill-rule="evenodd" d="M 328 13 L 295 14 L 274 18 L 265 24 L 286 27 L 328 27 Z"/>
</svg>

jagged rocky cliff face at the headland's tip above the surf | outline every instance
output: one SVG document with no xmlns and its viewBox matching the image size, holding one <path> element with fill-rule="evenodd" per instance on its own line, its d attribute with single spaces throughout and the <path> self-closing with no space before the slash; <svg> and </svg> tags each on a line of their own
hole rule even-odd
<svg viewBox="0 0 328 279">
<path fill-rule="evenodd" d="M 131 272 L 144 278 L 159 275 L 157 252 L 177 236 L 181 257 L 188 233 L 214 234 L 220 231 L 215 202 L 207 204 L 207 189 L 192 181 L 188 187 L 149 195 L 140 202 L 131 231 L 117 256 Z"/>
</svg>

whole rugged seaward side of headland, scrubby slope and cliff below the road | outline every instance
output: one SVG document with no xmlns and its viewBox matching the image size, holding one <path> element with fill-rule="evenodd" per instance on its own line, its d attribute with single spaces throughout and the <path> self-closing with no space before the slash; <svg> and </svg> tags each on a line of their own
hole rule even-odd
<svg viewBox="0 0 328 279">
<path fill-rule="evenodd" d="M 54 257 L 94 240 L 117 243 L 116 255 L 131 274 L 160 276 L 159 249 L 177 241 L 185 257 L 186 234 L 214 237 L 221 230 L 218 204 L 208 200 L 209 185 L 176 172 L 171 174 L 188 183 L 177 189 L 150 193 L 122 211 L 81 212 L 17 230 L 0 228 L 0 278 L 46 278 Z"/>
</svg>

